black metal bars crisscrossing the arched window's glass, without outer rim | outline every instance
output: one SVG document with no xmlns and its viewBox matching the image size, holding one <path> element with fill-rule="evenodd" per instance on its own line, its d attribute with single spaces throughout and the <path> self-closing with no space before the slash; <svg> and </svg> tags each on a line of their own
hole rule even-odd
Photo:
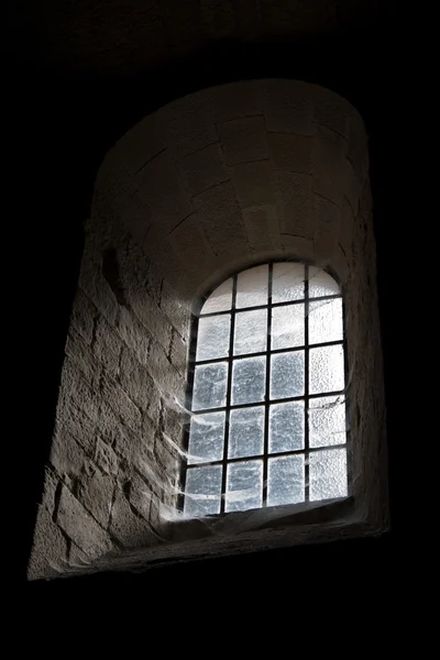
<svg viewBox="0 0 440 660">
<path fill-rule="evenodd" d="M 238 277 L 240 275 L 240 273 L 235 273 L 232 276 L 232 301 L 231 301 L 231 308 L 228 310 L 222 310 L 222 311 L 213 311 L 213 312 L 207 312 L 207 314 L 200 314 L 197 319 L 196 319 L 196 328 L 198 328 L 198 321 L 200 318 L 209 318 L 209 317 L 217 317 L 217 316 L 222 316 L 222 315 L 231 315 L 231 326 L 230 326 L 230 341 L 229 341 L 229 355 L 228 356 L 223 356 L 223 358 L 217 358 L 217 359 L 212 359 L 212 360 L 197 360 L 196 361 L 196 350 L 197 350 L 197 338 L 198 338 L 198 332 L 196 330 L 196 341 L 195 341 L 195 348 L 193 351 L 193 370 L 191 370 L 191 380 L 189 383 L 189 396 L 190 396 L 190 400 L 191 400 L 191 407 L 193 407 L 193 387 L 194 387 L 194 374 L 195 374 L 195 367 L 199 366 L 199 365 L 204 365 L 204 364 L 215 364 L 215 363 L 219 363 L 219 362 L 227 362 L 228 363 L 228 378 L 227 378 L 227 400 L 226 400 L 226 406 L 221 406 L 221 407 L 211 407 L 211 408 L 200 408 L 197 409 L 194 414 L 196 415 L 202 415 L 202 414 L 207 414 L 207 413 L 218 413 L 218 411 L 224 411 L 226 413 L 226 424 L 224 424 L 224 437 L 223 437 L 223 455 L 221 460 L 215 460 L 215 461 L 204 461 L 204 462 L 197 462 L 194 463 L 191 465 L 184 465 L 183 468 L 183 482 L 184 482 L 184 486 L 183 486 L 183 491 L 185 492 L 185 479 L 186 479 L 186 474 L 189 470 L 191 469 L 198 469 L 198 468 L 202 468 L 202 466 L 215 466 L 215 465 L 222 465 L 222 480 L 221 480 L 221 495 L 220 495 L 220 514 L 224 514 L 226 513 L 226 504 L 227 504 L 227 477 L 228 477 L 228 465 L 229 464 L 233 464 L 233 463 L 241 463 L 244 461 L 254 461 L 254 460 L 262 460 L 263 461 L 263 496 L 262 496 L 262 507 L 267 506 L 267 468 L 268 468 L 268 460 L 271 458 L 284 458 L 284 457 L 294 457 L 294 455 L 304 455 L 305 459 L 305 463 L 304 463 L 304 469 L 305 469 L 305 484 L 304 484 L 304 501 L 302 502 L 309 502 L 310 499 L 310 495 L 309 495 L 309 457 L 311 453 L 315 452 L 320 452 L 322 450 L 328 450 L 328 451 L 333 451 L 333 450 L 338 450 L 338 449 L 345 449 L 346 450 L 346 476 L 348 476 L 348 487 L 350 488 L 350 462 L 351 462 L 351 452 L 350 447 L 349 447 L 349 432 L 346 432 L 345 436 L 345 442 L 340 443 L 340 444 L 331 444 L 331 446 L 322 446 L 322 447 L 316 447 L 316 448 L 310 448 L 309 447 L 309 415 L 308 415 L 308 409 L 309 409 L 309 402 L 310 399 L 316 399 L 316 398 L 322 398 L 322 397 L 336 397 L 336 396 L 343 396 L 344 395 L 344 389 L 338 389 L 338 391 L 332 391 L 332 392 L 319 392 L 317 394 L 310 394 L 309 393 L 309 351 L 310 349 L 316 349 L 316 348 L 323 348 L 323 346 L 331 346 L 331 345 L 342 345 L 343 348 L 343 354 L 344 354 L 344 385 L 346 383 L 346 376 L 348 376 L 348 364 L 346 364 L 346 355 L 345 355 L 345 323 L 344 323 L 344 306 L 343 306 L 343 298 L 342 298 L 342 294 L 336 294 L 336 295 L 324 295 L 324 296 L 312 296 L 311 298 L 309 297 L 309 266 L 307 264 L 304 264 L 304 273 L 305 273 L 305 288 L 304 288 L 304 298 L 300 299 L 295 299 L 295 300 L 287 300 L 287 301 L 282 301 L 282 302 L 273 302 L 272 301 L 272 289 L 273 289 L 273 265 L 274 263 L 271 262 L 268 264 L 266 264 L 268 266 L 268 290 L 267 290 L 267 304 L 266 305 L 257 305 L 257 306 L 252 306 L 252 307 L 240 307 L 237 308 L 237 288 L 238 288 Z M 342 298 L 342 306 L 343 306 L 343 318 L 342 318 L 342 326 L 343 326 L 343 336 L 342 336 L 342 340 L 337 340 L 337 341 L 329 341 L 329 342 L 320 342 L 320 343 L 309 343 L 309 308 L 310 308 L 310 302 L 319 302 L 319 301 L 327 301 L 327 300 L 332 300 L 332 299 L 341 299 Z M 284 307 L 284 306 L 292 306 L 292 305 L 304 305 L 304 314 L 305 314 L 305 318 L 304 318 L 304 322 L 305 322 L 305 342 L 302 345 L 300 346 L 293 346 L 293 348 L 285 348 L 285 349 L 272 349 L 272 310 L 273 308 L 277 308 L 277 307 Z M 260 309 L 267 309 L 267 341 L 266 341 L 266 350 L 262 351 L 262 352 L 255 352 L 255 353 L 244 353 L 241 355 L 234 355 L 234 331 L 235 331 L 235 317 L 238 312 L 243 312 L 243 311 L 254 311 L 254 310 L 260 310 Z M 293 396 L 293 397 L 286 397 L 286 398 L 270 398 L 270 384 L 271 384 L 271 356 L 273 354 L 276 353 L 290 353 L 290 352 L 297 352 L 297 351 L 304 351 L 304 355 L 305 355 L 305 372 L 304 372 L 304 387 L 305 387 L 305 392 L 304 395 L 301 396 Z M 239 362 L 241 360 L 245 360 L 245 359 L 250 359 L 250 358 L 255 358 L 255 356 L 266 356 L 266 377 L 265 377 L 265 397 L 264 397 L 264 403 L 260 402 L 260 403 L 248 403 L 248 404 L 232 404 L 231 403 L 231 395 L 232 395 L 232 365 L 234 362 Z M 271 410 L 271 406 L 275 405 L 275 404 L 287 404 L 287 403 L 292 403 L 292 402 L 304 402 L 305 404 L 305 429 L 304 429 L 304 447 L 297 450 L 288 450 L 288 451 L 277 451 L 277 452 L 268 452 L 268 432 L 270 432 L 270 410 Z M 341 405 L 345 405 L 345 402 L 340 402 Z M 229 436 L 230 436 L 230 415 L 231 411 L 234 409 L 243 409 L 243 408 L 256 408 L 256 407 L 262 407 L 264 406 L 265 410 L 264 410 L 264 449 L 263 449 L 263 454 L 254 454 L 254 455 L 242 455 L 239 458 L 228 458 L 228 452 L 229 452 Z M 189 432 L 187 433 L 187 440 L 189 437 Z M 180 498 L 180 504 L 183 506 L 184 504 L 184 499 L 185 499 L 185 495 Z"/>
</svg>

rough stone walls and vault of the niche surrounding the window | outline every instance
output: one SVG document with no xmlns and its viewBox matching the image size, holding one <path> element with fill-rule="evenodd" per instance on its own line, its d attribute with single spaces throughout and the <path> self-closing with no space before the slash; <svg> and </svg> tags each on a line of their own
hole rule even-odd
<svg viewBox="0 0 440 660">
<path fill-rule="evenodd" d="M 386 529 L 367 173 L 356 110 L 284 79 L 187 96 L 110 150 L 86 227 L 30 579 Z M 316 264 L 342 285 L 352 496 L 283 517 L 169 521 L 180 458 L 164 433 L 182 446 L 191 309 L 233 271 L 268 258 Z"/>
</svg>

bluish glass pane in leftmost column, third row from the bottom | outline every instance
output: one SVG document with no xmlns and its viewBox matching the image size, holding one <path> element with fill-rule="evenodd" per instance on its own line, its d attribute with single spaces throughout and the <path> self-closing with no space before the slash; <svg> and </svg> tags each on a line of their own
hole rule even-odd
<svg viewBox="0 0 440 660">
<path fill-rule="evenodd" d="M 227 403 L 228 363 L 201 364 L 194 376 L 193 410 L 221 408 Z"/>
</svg>

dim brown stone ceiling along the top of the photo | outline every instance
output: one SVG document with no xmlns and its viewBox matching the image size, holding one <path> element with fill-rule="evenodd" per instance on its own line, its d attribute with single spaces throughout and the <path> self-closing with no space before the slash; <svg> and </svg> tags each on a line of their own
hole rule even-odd
<svg viewBox="0 0 440 660">
<path fill-rule="evenodd" d="M 224 42 L 343 35 L 387 8 L 381 0 L 47 0 L 35 28 L 44 67 L 125 76 Z"/>
</svg>

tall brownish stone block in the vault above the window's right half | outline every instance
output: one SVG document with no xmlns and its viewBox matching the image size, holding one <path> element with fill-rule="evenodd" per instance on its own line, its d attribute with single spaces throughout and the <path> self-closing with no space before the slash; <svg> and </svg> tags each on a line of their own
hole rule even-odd
<svg viewBox="0 0 440 660">
<path fill-rule="evenodd" d="M 311 177 L 277 170 L 276 198 L 280 232 L 312 239 L 315 212 Z"/>
</svg>

